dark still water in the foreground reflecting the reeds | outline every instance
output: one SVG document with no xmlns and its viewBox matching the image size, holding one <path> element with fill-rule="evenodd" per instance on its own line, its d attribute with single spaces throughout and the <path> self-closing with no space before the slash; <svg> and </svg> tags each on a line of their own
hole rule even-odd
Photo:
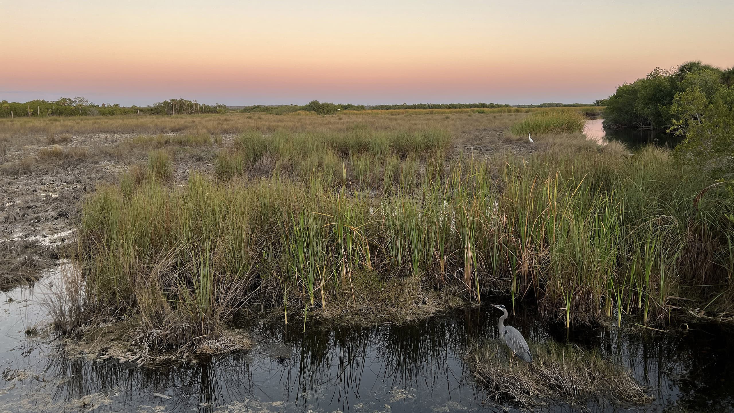
<svg viewBox="0 0 734 413">
<path fill-rule="evenodd" d="M 0 312 L 0 412 L 517 412 L 485 401 L 462 362 L 468 345 L 497 345 L 498 311 L 458 309 L 409 326 L 335 328 L 253 323 L 250 352 L 156 369 L 133 362 L 64 356 L 53 336 L 27 337 L 46 323 L 40 303 L 51 274 L 7 292 Z M 509 303 L 505 303 L 509 306 Z M 531 306 L 509 323 L 531 342 L 573 342 L 633 371 L 648 406 L 562 403 L 538 412 L 734 412 L 734 331 L 712 324 L 566 328 Z M 681 409 L 682 408 L 682 409 Z"/>
</svg>

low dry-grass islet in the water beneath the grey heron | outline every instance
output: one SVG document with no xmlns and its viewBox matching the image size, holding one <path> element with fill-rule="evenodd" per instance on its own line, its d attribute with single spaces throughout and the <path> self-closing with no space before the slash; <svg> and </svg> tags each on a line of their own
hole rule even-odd
<svg viewBox="0 0 734 413">
<path fill-rule="evenodd" d="M 532 363 L 515 357 L 511 366 L 502 345 L 482 345 L 465 357 L 470 372 L 495 402 L 532 408 L 551 400 L 573 406 L 583 406 L 589 399 L 623 404 L 653 400 L 629 370 L 595 351 L 551 341 L 532 346 Z"/>
</svg>

